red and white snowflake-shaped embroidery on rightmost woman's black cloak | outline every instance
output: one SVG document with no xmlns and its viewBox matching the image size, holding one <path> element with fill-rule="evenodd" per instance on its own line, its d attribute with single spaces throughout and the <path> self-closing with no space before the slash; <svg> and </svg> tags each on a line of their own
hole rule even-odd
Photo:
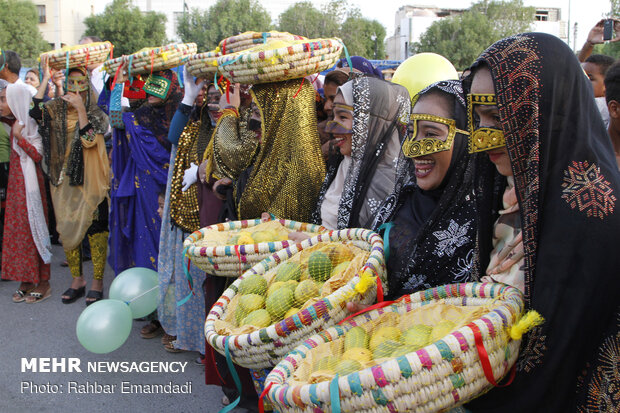
<svg viewBox="0 0 620 413">
<path fill-rule="evenodd" d="M 564 171 L 562 188 L 562 199 L 588 217 L 603 219 L 614 212 L 616 197 L 596 164 L 573 161 Z"/>
</svg>

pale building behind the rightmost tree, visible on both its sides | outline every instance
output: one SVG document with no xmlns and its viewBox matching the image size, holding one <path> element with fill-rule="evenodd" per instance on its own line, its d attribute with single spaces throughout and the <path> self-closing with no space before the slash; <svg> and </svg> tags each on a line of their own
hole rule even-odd
<svg viewBox="0 0 620 413">
<path fill-rule="evenodd" d="M 561 10 L 554 7 L 535 7 L 532 31 L 553 34 L 567 41 L 568 26 L 561 19 Z M 467 9 L 442 9 L 433 6 L 402 6 L 396 12 L 394 35 L 386 40 L 387 58 L 405 60 L 411 55 L 411 45 L 418 42 L 434 22 L 464 13 Z"/>
</svg>

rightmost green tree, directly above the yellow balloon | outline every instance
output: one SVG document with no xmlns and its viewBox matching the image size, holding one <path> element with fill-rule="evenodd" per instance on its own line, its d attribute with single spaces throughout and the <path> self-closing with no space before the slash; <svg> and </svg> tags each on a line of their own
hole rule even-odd
<svg viewBox="0 0 620 413">
<path fill-rule="evenodd" d="M 483 0 L 463 14 L 431 24 L 412 51 L 438 53 L 463 70 L 497 40 L 527 31 L 534 12 L 521 0 Z"/>
</svg>

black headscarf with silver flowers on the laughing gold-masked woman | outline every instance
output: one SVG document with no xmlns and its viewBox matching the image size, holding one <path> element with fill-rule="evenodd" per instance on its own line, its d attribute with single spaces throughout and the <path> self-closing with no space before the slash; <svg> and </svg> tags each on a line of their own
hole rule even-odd
<svg viewBox="0 0 620 413">
<path fill-rule="evenodd" d="M 434 83 L 417 96 L 442 93 L 452 103 L 452 119 L 465 129 L 465 99 L 458 80 Z M 474 157 L 467 136 L 457 133 L 450 167 L 439 187 L 420 189 L 413 160 L 402 151 L 394 192 L 379 209 L 373 229 L 387 223 L 388 273 L 391 297 L 425 288 L 472 280 L 476 244 Z"/>
</svg>

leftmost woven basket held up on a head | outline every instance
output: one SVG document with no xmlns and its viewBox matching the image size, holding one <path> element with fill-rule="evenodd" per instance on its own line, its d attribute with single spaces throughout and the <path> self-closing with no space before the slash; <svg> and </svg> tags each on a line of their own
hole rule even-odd
<svg viewBox="0 0 620 413">
<path fill-rule="evenodd" d="M 42 53 L 41 56 L 49 56 L 49 65 L 52 69 L 65 70 L 74 67 L 100 65 L 108 59 L 111 50 L 112 43 L 97 42 L 66 46 L 62 49 Z"/>
</svg>

